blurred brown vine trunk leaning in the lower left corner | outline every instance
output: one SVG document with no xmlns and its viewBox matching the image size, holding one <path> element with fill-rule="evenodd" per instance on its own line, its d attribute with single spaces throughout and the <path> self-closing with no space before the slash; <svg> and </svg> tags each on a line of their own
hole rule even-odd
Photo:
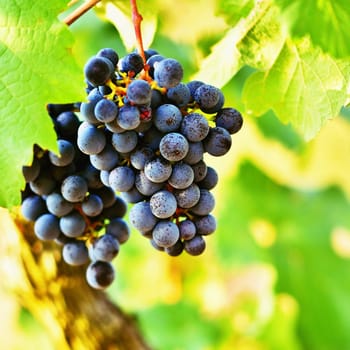
<svg viewBox="0 0 350 350">
<path fill-rule="evenodd" d="M 106 293 L 89 287 L 85 269 L 70 267 L 33 225 L 0 208 L 2 284 L 42 323 L 55 349 L 144 350 L 136 320 Z"/>
</svg>

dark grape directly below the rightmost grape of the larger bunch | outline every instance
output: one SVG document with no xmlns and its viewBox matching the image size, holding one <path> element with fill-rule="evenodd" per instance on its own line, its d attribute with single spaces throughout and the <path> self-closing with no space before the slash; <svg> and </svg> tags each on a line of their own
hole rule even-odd
<svg viewBox="0 0 350 350">
<path fill-rule="evenodd" d="M 204 149 L 210 155 L 220 157 L 226 154 L 232 145 L 230 133 L 220 126 L 211 128 L 204 140 Z"/>
</svg>

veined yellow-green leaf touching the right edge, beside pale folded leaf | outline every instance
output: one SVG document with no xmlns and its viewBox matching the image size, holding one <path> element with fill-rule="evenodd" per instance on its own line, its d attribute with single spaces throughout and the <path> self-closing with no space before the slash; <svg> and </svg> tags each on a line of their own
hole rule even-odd
<svg viewBox="0 0 350 350">
<path fill-rule="evenodd" d="M 350 62 L 322 53 L 308 39 L 288 40 L 269 70 L 247 79 L 243 100 L 249 113 L 261 115 L 271 108 L 310 140 L 339 114 L 349 81 Z"/>
</svg>

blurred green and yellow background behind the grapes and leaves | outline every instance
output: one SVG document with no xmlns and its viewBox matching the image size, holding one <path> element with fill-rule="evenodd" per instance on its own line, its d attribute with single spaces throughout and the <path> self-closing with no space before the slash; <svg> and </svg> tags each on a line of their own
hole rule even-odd
<svg viewBox="0 0 350 350">
<path fill-rule="evenodd" d="M 156 21 L 151 47 L 178 59 L 188 81 L 228 25 L 213 1 L 157 4 L 157 18 L 143 12 L 145 41 Z M 80 64 L 102 47 L 129 49 L 105 18 L 91 11 L 71 26 Z M 220 176 L 206 252 L 172 258 L 133 232 L 108 293 L 157 350 L 350 349 L 350 111 L 305 142 L 273 112 L 248 116 L 241 93 L 251 71 L 223 88 L 245 119 L 229 154 L 206 158 Z M 0 310 L 1 349 L 52 349 L 1 290 Z"/>
</svg>

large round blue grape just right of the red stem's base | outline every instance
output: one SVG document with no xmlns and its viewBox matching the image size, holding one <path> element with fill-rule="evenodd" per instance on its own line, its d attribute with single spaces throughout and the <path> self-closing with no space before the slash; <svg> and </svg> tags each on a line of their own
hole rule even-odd
<svg viewBox="0 0 350 350">
<path fill-rule="evenodd" d="M 183 78 L 181 64 L 173 58 L 165 58 L 154 64 L 154 80 L 159 86 L 172 88 L 178 85 Z"/>
</svg>

